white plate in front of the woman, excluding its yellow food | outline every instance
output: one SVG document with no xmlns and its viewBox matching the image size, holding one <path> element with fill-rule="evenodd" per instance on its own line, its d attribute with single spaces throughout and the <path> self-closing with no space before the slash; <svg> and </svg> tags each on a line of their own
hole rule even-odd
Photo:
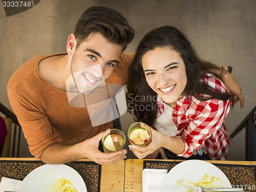
<svg viewBox="0 0 256 192">
<path fill-rule="evenodd" d="M 202 160 L 187 160 L 170 169 L 164 179 L 161 191 L 186 191 L 185 185 L 189 182 L 199 182 L 205 174 L 219 178 L 224 187 L 231 187 L 228 178 L 217 166 Z M 182 186 L 177 185 L 178 181 L 182 181 Z"/>
</svg>

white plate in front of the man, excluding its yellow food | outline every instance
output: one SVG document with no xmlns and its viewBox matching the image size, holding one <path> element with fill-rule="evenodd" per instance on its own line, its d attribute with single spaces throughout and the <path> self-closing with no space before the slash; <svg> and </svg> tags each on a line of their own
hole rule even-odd
<svg viewBox="0 0 256 192">
<path fill-rule="evenodd" d="M 78 192 L 87 192 L 82 177 L 75 169 L 64 164 L 45 164 L 35 168 L 24 178 L 18 192 L 46 192 L 59 177 L 70 180 Z"/>
</svg>

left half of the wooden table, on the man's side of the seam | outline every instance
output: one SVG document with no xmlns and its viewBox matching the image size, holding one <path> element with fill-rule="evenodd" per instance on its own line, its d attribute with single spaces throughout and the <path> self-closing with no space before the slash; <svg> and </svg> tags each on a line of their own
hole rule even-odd
<svg viewBox="0 0 256 192">
<path fill-rule="evenodd" d="M 0 158 L 7 161 L 39 161 L 36 158 Z M 89 159 L 79 159 L 77 161 L 91 161 Z M 124 160 L 116 164 L 101 165 L 100 191 L 101 192 L 123 192 L 124 191 Z"/>
</svg>

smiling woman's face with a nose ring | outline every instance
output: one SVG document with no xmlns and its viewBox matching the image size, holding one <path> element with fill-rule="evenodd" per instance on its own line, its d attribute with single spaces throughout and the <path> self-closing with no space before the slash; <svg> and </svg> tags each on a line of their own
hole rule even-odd
<svg viewBox="0 0 256 192">
<path fill-rule="evenodd" d="M 187 76 L 180 54 L 168 47 L 156 48 L 142 56 L 142 67 L 148 86 L 165 103 L 174 106 L 181 99 L 186 87 Z"/>
</svg>

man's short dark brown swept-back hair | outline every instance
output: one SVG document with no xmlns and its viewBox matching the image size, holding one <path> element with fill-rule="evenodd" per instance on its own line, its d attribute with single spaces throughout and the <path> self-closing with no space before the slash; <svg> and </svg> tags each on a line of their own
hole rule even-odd
<svg viewBox="0 0 256 192">
<path fill-rule="evenodd" d="M 99 32 L 108 41 L 126 49 L 134 38 L 134 29 L 118 11 L 106 7 L 90 7 L 81 15 L 75 28 L 77 47 L 89 34 Z"/>
</svg>

